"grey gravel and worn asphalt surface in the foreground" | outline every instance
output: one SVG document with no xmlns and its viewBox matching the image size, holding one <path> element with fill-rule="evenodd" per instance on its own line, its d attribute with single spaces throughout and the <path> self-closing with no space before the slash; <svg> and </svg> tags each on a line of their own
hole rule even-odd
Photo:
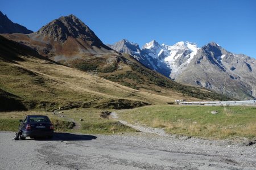
<svg viewBox="0 0 256 170">
<path fill-rule="evenodd" d="M 11 141 L 0 132 L 0 169 L 256 169 L 256 147 L 145 133 L 55 133 Z"/>
</svg>

